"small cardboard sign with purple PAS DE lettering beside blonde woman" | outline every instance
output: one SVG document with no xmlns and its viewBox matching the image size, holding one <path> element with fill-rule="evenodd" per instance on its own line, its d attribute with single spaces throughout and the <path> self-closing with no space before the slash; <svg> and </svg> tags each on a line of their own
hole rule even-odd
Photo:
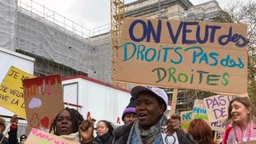
<svg viewBox="0 0 256 144">
<path fill-rule="evenodd" d="M 203 99 L 210 122 L 221 121 L 227 118 L 229 102 L 235 99 L 231 96 L 215 95 Z"/>
</svg>

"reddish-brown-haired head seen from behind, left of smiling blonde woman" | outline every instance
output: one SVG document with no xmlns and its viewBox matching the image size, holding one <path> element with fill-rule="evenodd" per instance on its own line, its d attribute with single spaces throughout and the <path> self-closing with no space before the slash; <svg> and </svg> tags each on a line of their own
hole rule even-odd
<svg viewBox="0 0 256 144">
<path fill-rule="evenodd" d="M 187 130 L 198 144 L 217 144 L 213 140 L 213 131 L 203 119 L 193 119 Z"/>
</svg>

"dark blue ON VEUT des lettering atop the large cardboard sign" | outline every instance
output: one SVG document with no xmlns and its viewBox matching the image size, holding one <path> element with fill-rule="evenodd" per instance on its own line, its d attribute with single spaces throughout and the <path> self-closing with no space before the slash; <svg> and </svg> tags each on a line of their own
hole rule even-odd
<svg viewBox="0 0 256 144">
<path fill-rule="evenodd" d="M 143 32 L 142 32 L 143 35 L 141 38 L 136 38 L 133 34 L 133 32 L 134 32 L 133 29 L 134 29 L 135 25 L 137 25 L 137 24 L 141 24 L 143 27 Z M 171 23 L 169 23 L 169 21 L 167 21 L 166 25 L 167 25 L 167 28 L 169 31 L 169 35 L 171 37 L 171 41 L 173 41 L 173 44 L 177 43 L 177 39 L 179 37 L 179 34 L 181 33 L 181 29 L 183 28 L 182 41 L 181 41 L 181 43 L 183 45 L 196 44 L 196 43 L 199 43 L 199 44 L 207 43 L 207 41 L 209 39 L 209 29 L 211 29 L 209 42 L 214 43 L 215 33 L 217 30 L 221 29 L 220 26 L 205 25 L 205 35 L 204 35 L 204 37 L 200 37 L 201 25 L 199 25 L 199 22 L 186 22 L 186 21 L 183 22 L 183 21 L 181 21 L 179 23 L 179 27 L 178 27 L 175 35 L 173 33 L 173 28 L 171 27 Z M 187 26 L 197 26 L 197 31 L 195 32 L 196 39 L 193 39 L 193 40 L 187 39 L 187 33 L 192 32 L 192 30 L 188 29 Z M 156 31 L 153 27 L 151 20 L 148 20 L 147 23 L 145 23 L 145 21 L 143 21 L 141 19 L 137 19 L 137 20 L 133 21 L 133 23 L 131 23 L 131 25 L 129 27 L 129 36 L 130 36 L 130 39 L 135 42 L 143 41 L 146 38 L 147 38 L 147 42 L 150 42 L 151 35 L 152 35 L 155 43 L 160 43 L 161 32 L 162 32 L 161 29 L 162 29 L 161 19 L 159 19 L 159 21 L 158 21 Z M 203 38 L 203 39 L 201 39 L 201 38 Z M 227 40 L 224 40 L 226 38 L 227 38 Z M 235 45 L 237 47 L 245 47 L 247 45 L 247 40 L 245 39 L 245 37 L 243 37 L 242 35 L 239 35 L 237 33 L 235 33 L 234 35 L 232 34 L 232 27 L 229 28 L 228 35 L 219 36 L 218 42 L 220 45 L 227 45 L 229 42 L 233 42 L 233 43 L 235 43 Z"/>
</svg>

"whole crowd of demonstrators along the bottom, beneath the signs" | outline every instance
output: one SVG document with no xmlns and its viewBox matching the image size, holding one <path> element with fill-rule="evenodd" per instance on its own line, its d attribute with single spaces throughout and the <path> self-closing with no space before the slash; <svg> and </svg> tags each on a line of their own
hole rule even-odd
<svg viewBox="0 0 256 144">
<path fill-rule="evenodd" d="M 163 144 L 165 137 L 161 135 L 161 126 L 166 127 L 166 135 L 177 133 L 177 141 L 180 144 L 216 144 L 213 141 L 211 127 L 203 119 L 193 119 L 189 125 L 188 133 L 181 129 L 178 113 L 167 119 L 163 113 L 167 110 L 167 95 L 163 89 L 157 87 L 136 86 L 131 89 L 129 105 L 125 108 L 122 120 L 125 125 L 116 129 L 109 121 L 101 120 L 97 123 L 97 136 L 95 131 L 95 119 L 83 119 L 83 116 L 75 109 L 66 107 L 55 117 L 51 124 L 50 133 L 65 139 L 80 142 L 82 144 L 123 144 L 123 143 L 150 143 Z M 255 129 L 256 110 L 247 97 L 237 97 L 229 103 L 228 117 L 225 123 L 227 127 L 223 144 L 234 132 L 235 141 L 256 140 Z M 17 144 L 17 115 L 11 118 L 11 130 L 9 141 L 3 139 L 3 144 Z M 0 117 L 0 139 L 5 131 L 5 120 Z M 22 135 L 23 143 L 27 136 Z"/>
</svg>

